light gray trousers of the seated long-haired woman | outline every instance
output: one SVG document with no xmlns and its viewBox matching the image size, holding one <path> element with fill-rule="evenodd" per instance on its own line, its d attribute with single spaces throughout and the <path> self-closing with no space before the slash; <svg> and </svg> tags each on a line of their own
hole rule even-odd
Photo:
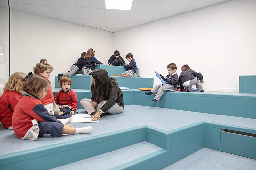
<svg viewBox="0 0 256 170">
<path fill-rule="evenodd" d="M 107 101 L 102 101 L 98 103 L 97 107 L 92 107 L 91 99 L 82 99 L 80 101 L 80 105 L 86 110 L 86 112 L 90 115 L 92 112 L 98 111 Z M 107 112 L 109 114 L 117 114 L 121 113 L 124 110 L 123 106 L 119 106 L 118 103 L 115 103 Z"/>
</svg>

